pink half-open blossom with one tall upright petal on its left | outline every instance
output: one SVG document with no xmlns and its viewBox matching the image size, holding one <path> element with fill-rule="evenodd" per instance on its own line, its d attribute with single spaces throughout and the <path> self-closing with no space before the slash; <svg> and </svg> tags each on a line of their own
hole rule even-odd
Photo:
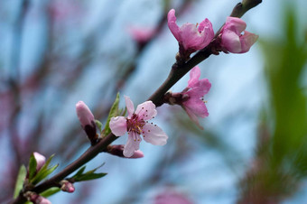
<svg viewBox="0 0 307 204">
<path fill-rule="evenodd" d="M 214 37 L 212 24 L 207 18 L 203 20 L 199 26 L 197 26 L 197 24 L 184 23 L 179 27 L 176 23 L 175 10 L 172 9 L 167 15 L 167 21 L 180 47 L 188 52 L 189 55 L 194 51 L 205 48 Z"/>
</svg>

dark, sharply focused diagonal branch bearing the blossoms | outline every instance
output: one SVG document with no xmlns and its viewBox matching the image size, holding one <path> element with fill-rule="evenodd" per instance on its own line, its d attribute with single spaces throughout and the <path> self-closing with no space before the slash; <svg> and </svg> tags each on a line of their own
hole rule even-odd
<svg viewBox="0 0 307 204">
<path fill-rule="evenodd" d="M 231 16 L 241 17 L 245 14 L 249 9 L 255 7 L 260 4 L 261 0 L 243 0 L 242 3 L 239 3 L 235 6 Z M 220 30 L 217 32 L 215 36 L 219 34 Z M 216 38 L 216 37 L 215 37 Z M 215 43 L 215 39 L 210 42 L 210 44 L 201 51 L 198 51 L 190 60 L 187 62 L 178 64 L 177 62 L 172 65 L 172 70 L 168 76 L 168 78 L 163 82 L 163 84 L 158 88 L 154 94 L 148 98 L 148 100 L 152 100 L 156 107 L 160 107 L 163 105 L 163 96 L 164 94 L 172 88 L 172 86 L 181 79 L 186 73 L 189 72 L 193 67 L 199 64 L 201 61 L 206 60 L 212 54 L 211 48 Z M 88 150 L 83 153 L 79 159 L 70 163 L 65 169 L 63 169 L 58 174 L 51 177 L 51 179 L 42 182 L 42 184 L 33 188 L 32 191 L 36 193 L 41 193 L 44 190 L 48 190 L 51 187 L 57 186 L 58 183 L 65 179 L 70 173 L 75 172 L 85 163 L 89 162 L 98 153 L 104 152 L 107 149 L 107 145 L 111 144 L 117 139 L 114 134 L 108 134 L 104 137 L 98 144 L 91 146 Z M 20 192 L 17 199 L 13 200 L 12 203 L 24 203 L 26 199 L 23 196 L 23 190 Z"/>
</svg>

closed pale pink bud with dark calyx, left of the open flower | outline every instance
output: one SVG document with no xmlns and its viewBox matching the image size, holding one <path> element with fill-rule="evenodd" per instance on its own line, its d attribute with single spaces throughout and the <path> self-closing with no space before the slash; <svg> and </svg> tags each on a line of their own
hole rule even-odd
<svg viewBox="0 0 307 204">
<path fill-rule="evenodd" d="M 95 118 L 88 106 L 83 102 L 79 101 L 76 104 L 76 112 L 79 118 L 79 122 L 88 135 L 88 139 L 92 145 L 98 141 L 98 134 L 96 134 Z"/>
</svg>

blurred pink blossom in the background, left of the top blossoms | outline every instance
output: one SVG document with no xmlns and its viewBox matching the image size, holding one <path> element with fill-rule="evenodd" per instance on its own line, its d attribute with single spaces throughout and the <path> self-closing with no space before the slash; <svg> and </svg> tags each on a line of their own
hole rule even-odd
<svg viewBox="0 0 307 204">
<path fill-rule="evenodd" d="M 153 28 L 129 27 L 128 32 L 136 42 L 144 43 L 148 42 L 156 31 Z"/>
</svg>

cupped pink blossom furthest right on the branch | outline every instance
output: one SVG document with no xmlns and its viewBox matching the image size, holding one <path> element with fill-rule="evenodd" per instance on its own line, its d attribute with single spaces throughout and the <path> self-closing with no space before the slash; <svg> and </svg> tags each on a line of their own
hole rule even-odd
<svg viewBox="0 0 307 204">
<path fill-rule="evenodd" d="M 258 35 L 247 32 L 247 23 L 240 18 L 228 17 L 221 30 L 221 46 L 232 53 L 245 53 L 258 39 Z M 241 32 L 244 32 L 242 35 Z"/>
</svg>

